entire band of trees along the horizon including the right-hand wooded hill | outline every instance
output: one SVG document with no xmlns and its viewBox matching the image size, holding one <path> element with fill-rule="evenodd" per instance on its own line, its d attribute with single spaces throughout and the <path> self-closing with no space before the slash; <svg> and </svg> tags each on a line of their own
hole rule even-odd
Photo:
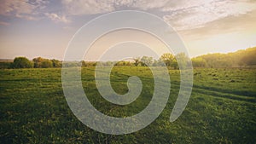
<svg viewBox="0 0 256 144">
<path fill-rule="evenodd" d="M 256 47 L 245 50 L 238 50 L 228 54 L 207 54 L 192 58 L 193 67 L 251 67 L 256 66 Z M 129 61 L 79 61 L 79 62 L 64 62 L 68 66 L 168 66 L 173 69 L 178 69 L 177 59 L 182 61 L 182 65 L 188 64 L 188 56 L 183 53 L 172 55 L 166 53 L 160 56 L 159 60 L 154 60 L 153 57 L 143 56 L 137 57 Z M 0 62 L 0 68 L 50 68 L 61 67 L 61 60 L 49 60 L 42 57 L 28 60 L 26 57 L 16 57 L 12 62 Z"/>
</svg>

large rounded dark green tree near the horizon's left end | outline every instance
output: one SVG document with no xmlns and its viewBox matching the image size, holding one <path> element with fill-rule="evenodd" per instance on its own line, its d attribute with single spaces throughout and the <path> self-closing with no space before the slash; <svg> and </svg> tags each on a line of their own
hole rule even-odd
<svg viewBox="0 0 256 144">
<path fill-rule="evenodd" d="M 26 57 L 15 57 L 14 62 L 12 63 L 13 68 L 32 68 L 32 61 L 28 60 Z"/>
</svg>

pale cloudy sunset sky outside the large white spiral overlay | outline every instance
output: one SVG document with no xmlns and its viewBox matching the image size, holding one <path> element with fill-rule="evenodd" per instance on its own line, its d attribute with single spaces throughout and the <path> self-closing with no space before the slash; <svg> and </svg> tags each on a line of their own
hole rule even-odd
<svg viewBox="0 0 256 144">
<path fill-rule="evenodd" d="M 256 46 L 256 0 L 0 0 L 0 59 L 63 60 L 81 26 L 119 10 L 159 16 L 177 31 L 190 57 Z M 131 45 L 120 43 L 120 49 L 115 45 L 112 51 L 136 51 L 131 57 L 152 53 L 144 51 L 142 43 Z"/>
</svg>

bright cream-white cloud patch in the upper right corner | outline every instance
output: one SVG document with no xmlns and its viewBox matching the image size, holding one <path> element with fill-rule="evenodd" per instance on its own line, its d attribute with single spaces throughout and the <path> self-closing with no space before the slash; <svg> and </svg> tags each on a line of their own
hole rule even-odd
<svg viewBox="0 0 256 144">
<path fill-rule="evenodd" d="M 199 3 L 201 2 L 201 3 Z M 183 1 L 180 1 L 183 3 Z M 230 16 L 247 14 L 256 9 L 256 3 L 250 1 L 197 1 L 187 5 L 175 5 L 162 9 L 171 14 L 163 18 L 178 31 L 195 29 L 206 26 L 215 20 L 225 19 Z"/>
</svg>

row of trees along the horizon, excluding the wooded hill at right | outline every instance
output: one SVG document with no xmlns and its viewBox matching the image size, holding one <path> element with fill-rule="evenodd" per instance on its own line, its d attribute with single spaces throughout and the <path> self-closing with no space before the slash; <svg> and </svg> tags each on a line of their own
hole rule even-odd
<svg viewBox="0 0 256 144">
<path fill-rule="evenodd" d="M 183 60 L 189 61 L 189 57 L 181 53 L 178 55 L 172 55 L 166 53 L 160 56 L 159 60 L 154 60 L 153 57 L 143 56 L 137 57 L 133 60 L 126 61 L 65 61 L 62 63 L 61 60 L 49 60 L 42 57 L 28 60 L 26 57 L 15 57 L 9 68 L 51 68 L 65 66 L 169 66 L 174 69 L 178 68 L 177 58 L 184 58 Z M 187 62 L 184 62 L 185 64 Z"/>
</svg>

